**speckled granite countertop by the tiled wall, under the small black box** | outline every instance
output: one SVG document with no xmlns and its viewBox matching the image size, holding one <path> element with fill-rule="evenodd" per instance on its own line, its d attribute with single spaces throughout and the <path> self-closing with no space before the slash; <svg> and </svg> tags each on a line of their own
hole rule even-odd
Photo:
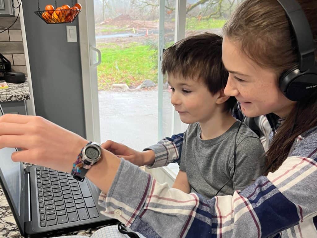
<svg viewBox="0 0 317 238">
<path fill-rule="evenodd" d="M 3 80 L 0 81 L 4 82 Z M 24 83 L 8 83 L 9 88 L 0 89 L 0 102 L 24 101 L 30 99 L 28 81 Z"/>
</svg>

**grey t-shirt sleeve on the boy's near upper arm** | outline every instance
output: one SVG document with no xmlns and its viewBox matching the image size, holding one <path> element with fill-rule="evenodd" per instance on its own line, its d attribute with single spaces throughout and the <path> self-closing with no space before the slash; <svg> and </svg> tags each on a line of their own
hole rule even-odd
<svg viewBox="0 0 317 238">
<path fill-rule="evenodd" d="M 236 170 L 233 176 L 234 190 L 243 190 L 265 172 L 265 152 L 256 136 L 245 136 L 236 146 Z M 234 171 L 234 158 L 230 160 L 230 175 Z"/>
</svg>

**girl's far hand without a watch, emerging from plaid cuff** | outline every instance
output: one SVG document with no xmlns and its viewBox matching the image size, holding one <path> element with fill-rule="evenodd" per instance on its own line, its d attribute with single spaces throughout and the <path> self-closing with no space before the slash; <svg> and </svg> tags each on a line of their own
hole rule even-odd
<svg viewBox="0 0 317 238">
<path fill-rule="evenodd" d="M 111 140 L 102 143 L 101 147 L 138 166 L 152 164 L 155 160 L 155 154 L 152 150 L 141 152 Z"/>
</svg>

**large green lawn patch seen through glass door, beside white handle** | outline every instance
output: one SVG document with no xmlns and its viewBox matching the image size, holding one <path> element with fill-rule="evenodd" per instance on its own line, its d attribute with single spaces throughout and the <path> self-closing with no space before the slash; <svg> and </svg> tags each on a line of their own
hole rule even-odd
<svg viewBox="0 0 317 238">
<path fill-rule="evenodd" d="M 150 45 L 100 44 L 102 63 L 98 66 L 98 89 L 111 89 L 113 83 L 137 86 L 149 79 L 157 83 L 158 52 Z"/>
</svg>

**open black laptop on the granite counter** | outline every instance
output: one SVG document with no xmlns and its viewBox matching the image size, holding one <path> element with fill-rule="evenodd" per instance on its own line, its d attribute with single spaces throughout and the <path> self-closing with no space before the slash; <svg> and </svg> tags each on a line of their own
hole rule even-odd
<svg viewBox="0 0 317 238">
<path fill-rule="evenodd" d="M 0 116 L 3 110 L 0 105 Z M 0 183 L 17 226 L 24 237 L 48 237 L 118 223 L 100 213 L 100 194 L 87 178 L 13 162 L 13 148 L 0 149 Z"/>
</svg>

